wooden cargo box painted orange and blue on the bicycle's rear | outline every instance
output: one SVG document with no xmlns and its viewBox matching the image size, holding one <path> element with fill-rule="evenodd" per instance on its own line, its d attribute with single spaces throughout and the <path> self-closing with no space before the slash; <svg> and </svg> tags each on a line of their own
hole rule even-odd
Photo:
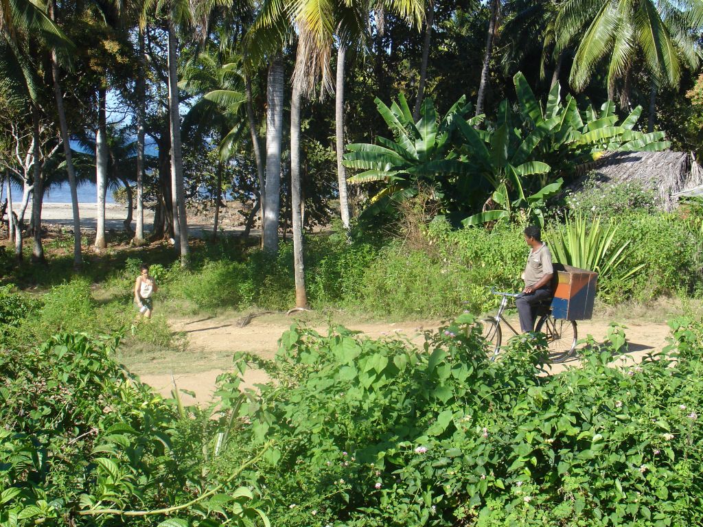
<svg viewBox="0 0 703 527">
<path fill-rule="evenodd" d="M 562 266 L 557 263 L 554 265 L 554 272 L 557 275 L 554 298 L 552 299 L 554 318 L 565 318 L 566 320 L 591 318 L 598 273 L 578 267 Z"/>
</svg>

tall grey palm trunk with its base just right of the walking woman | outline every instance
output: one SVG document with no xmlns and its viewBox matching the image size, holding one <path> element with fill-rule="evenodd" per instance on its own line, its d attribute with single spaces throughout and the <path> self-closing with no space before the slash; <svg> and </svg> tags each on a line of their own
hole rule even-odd
<svg viewBox="0 0 703 527">
<path fill-rule="evenodd" d="M 178 94 L 178 41 L 173 23 L 169 18 L 169 119 L 171 122 L 171 183 L 174 208 L 174 230 L 176 251 L 181 255 L 181 266 L 188 264 L 188 221 L 186 219 L 186 197 L 183 193 L 183 155 L 181 153 L 181 115 Z M 176 221 L 176 215 L 178 219 Z"/>
</svg>

